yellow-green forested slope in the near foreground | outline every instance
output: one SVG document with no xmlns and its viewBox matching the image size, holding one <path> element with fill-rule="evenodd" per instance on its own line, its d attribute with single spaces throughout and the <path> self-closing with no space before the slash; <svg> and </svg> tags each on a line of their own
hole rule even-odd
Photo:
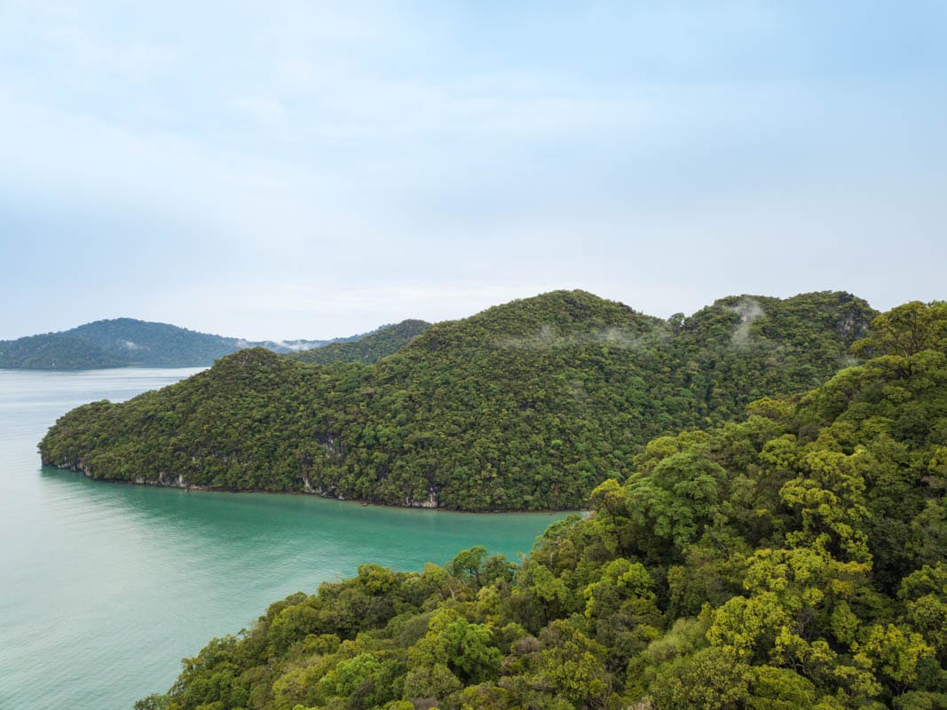
<svg viewBox="0 0 947 710">
<path fill-rule="evenodd" d="M 801 398 L 653 439 L 518 565 L 365 564 L 136 707 L 947 708 L 947 304 L 856 350 Z"/>
</svg>

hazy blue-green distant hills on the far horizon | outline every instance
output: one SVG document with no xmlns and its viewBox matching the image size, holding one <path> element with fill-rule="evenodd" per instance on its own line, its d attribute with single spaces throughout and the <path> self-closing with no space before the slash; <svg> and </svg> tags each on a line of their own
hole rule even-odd
<svg viewBox="0 0 947 710">
<path fill-rule="evenodd" d="M 86 323 L 78 328 L 17 340 L 0 341 L 0 367 L 37 370 L 83 370 L 98 367 L 199 367 L 243 347 L 260 346 L 274 352 L 347 342 L 301 340 L 289 343 L 249 343 L 241 338 L 208 335 L 167 323 L 133 318 Z"/>
</svg>

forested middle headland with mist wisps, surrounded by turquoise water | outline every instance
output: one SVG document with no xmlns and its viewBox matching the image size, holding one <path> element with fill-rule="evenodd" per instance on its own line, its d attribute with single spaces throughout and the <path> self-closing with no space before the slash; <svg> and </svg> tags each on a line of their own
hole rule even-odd
<svg viewBox="0 0 947 710">
<path fill-rule="evenodd" d="M 62 417 L 47 465 L 103 479 L 467 510 L 583 506 L 656 435 L 706 428 L 849 363 L 848 293 L 725 298 L 670 322 L 554 292 L 427 328 L 377 364 L 244 350 Z"/>
</svg>

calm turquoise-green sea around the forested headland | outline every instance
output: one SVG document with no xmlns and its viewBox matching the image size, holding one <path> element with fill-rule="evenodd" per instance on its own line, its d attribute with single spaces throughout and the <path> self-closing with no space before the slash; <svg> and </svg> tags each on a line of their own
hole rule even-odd
<svg viewBox="0 0 947 710">
<path fill-rule="evenodd" d="M 36 444 L 67 410 L 197 371 L 0 370 L 0 710 L 130 710 L 279 598 L 369 561 L 420 569 L 474 544 L 515 559 L 562 517 L 186 493 L 41 468 Z"/>
</svg>

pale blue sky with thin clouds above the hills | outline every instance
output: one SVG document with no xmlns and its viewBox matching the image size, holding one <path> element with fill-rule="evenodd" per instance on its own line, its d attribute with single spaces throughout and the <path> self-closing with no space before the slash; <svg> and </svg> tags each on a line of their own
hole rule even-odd
<svg viewBox="0 0 947 710">
<path fill-rule="evenodd" d="M 0 0 L 0 339 L 947 298 L 947 4 Z"/>
</svg>

